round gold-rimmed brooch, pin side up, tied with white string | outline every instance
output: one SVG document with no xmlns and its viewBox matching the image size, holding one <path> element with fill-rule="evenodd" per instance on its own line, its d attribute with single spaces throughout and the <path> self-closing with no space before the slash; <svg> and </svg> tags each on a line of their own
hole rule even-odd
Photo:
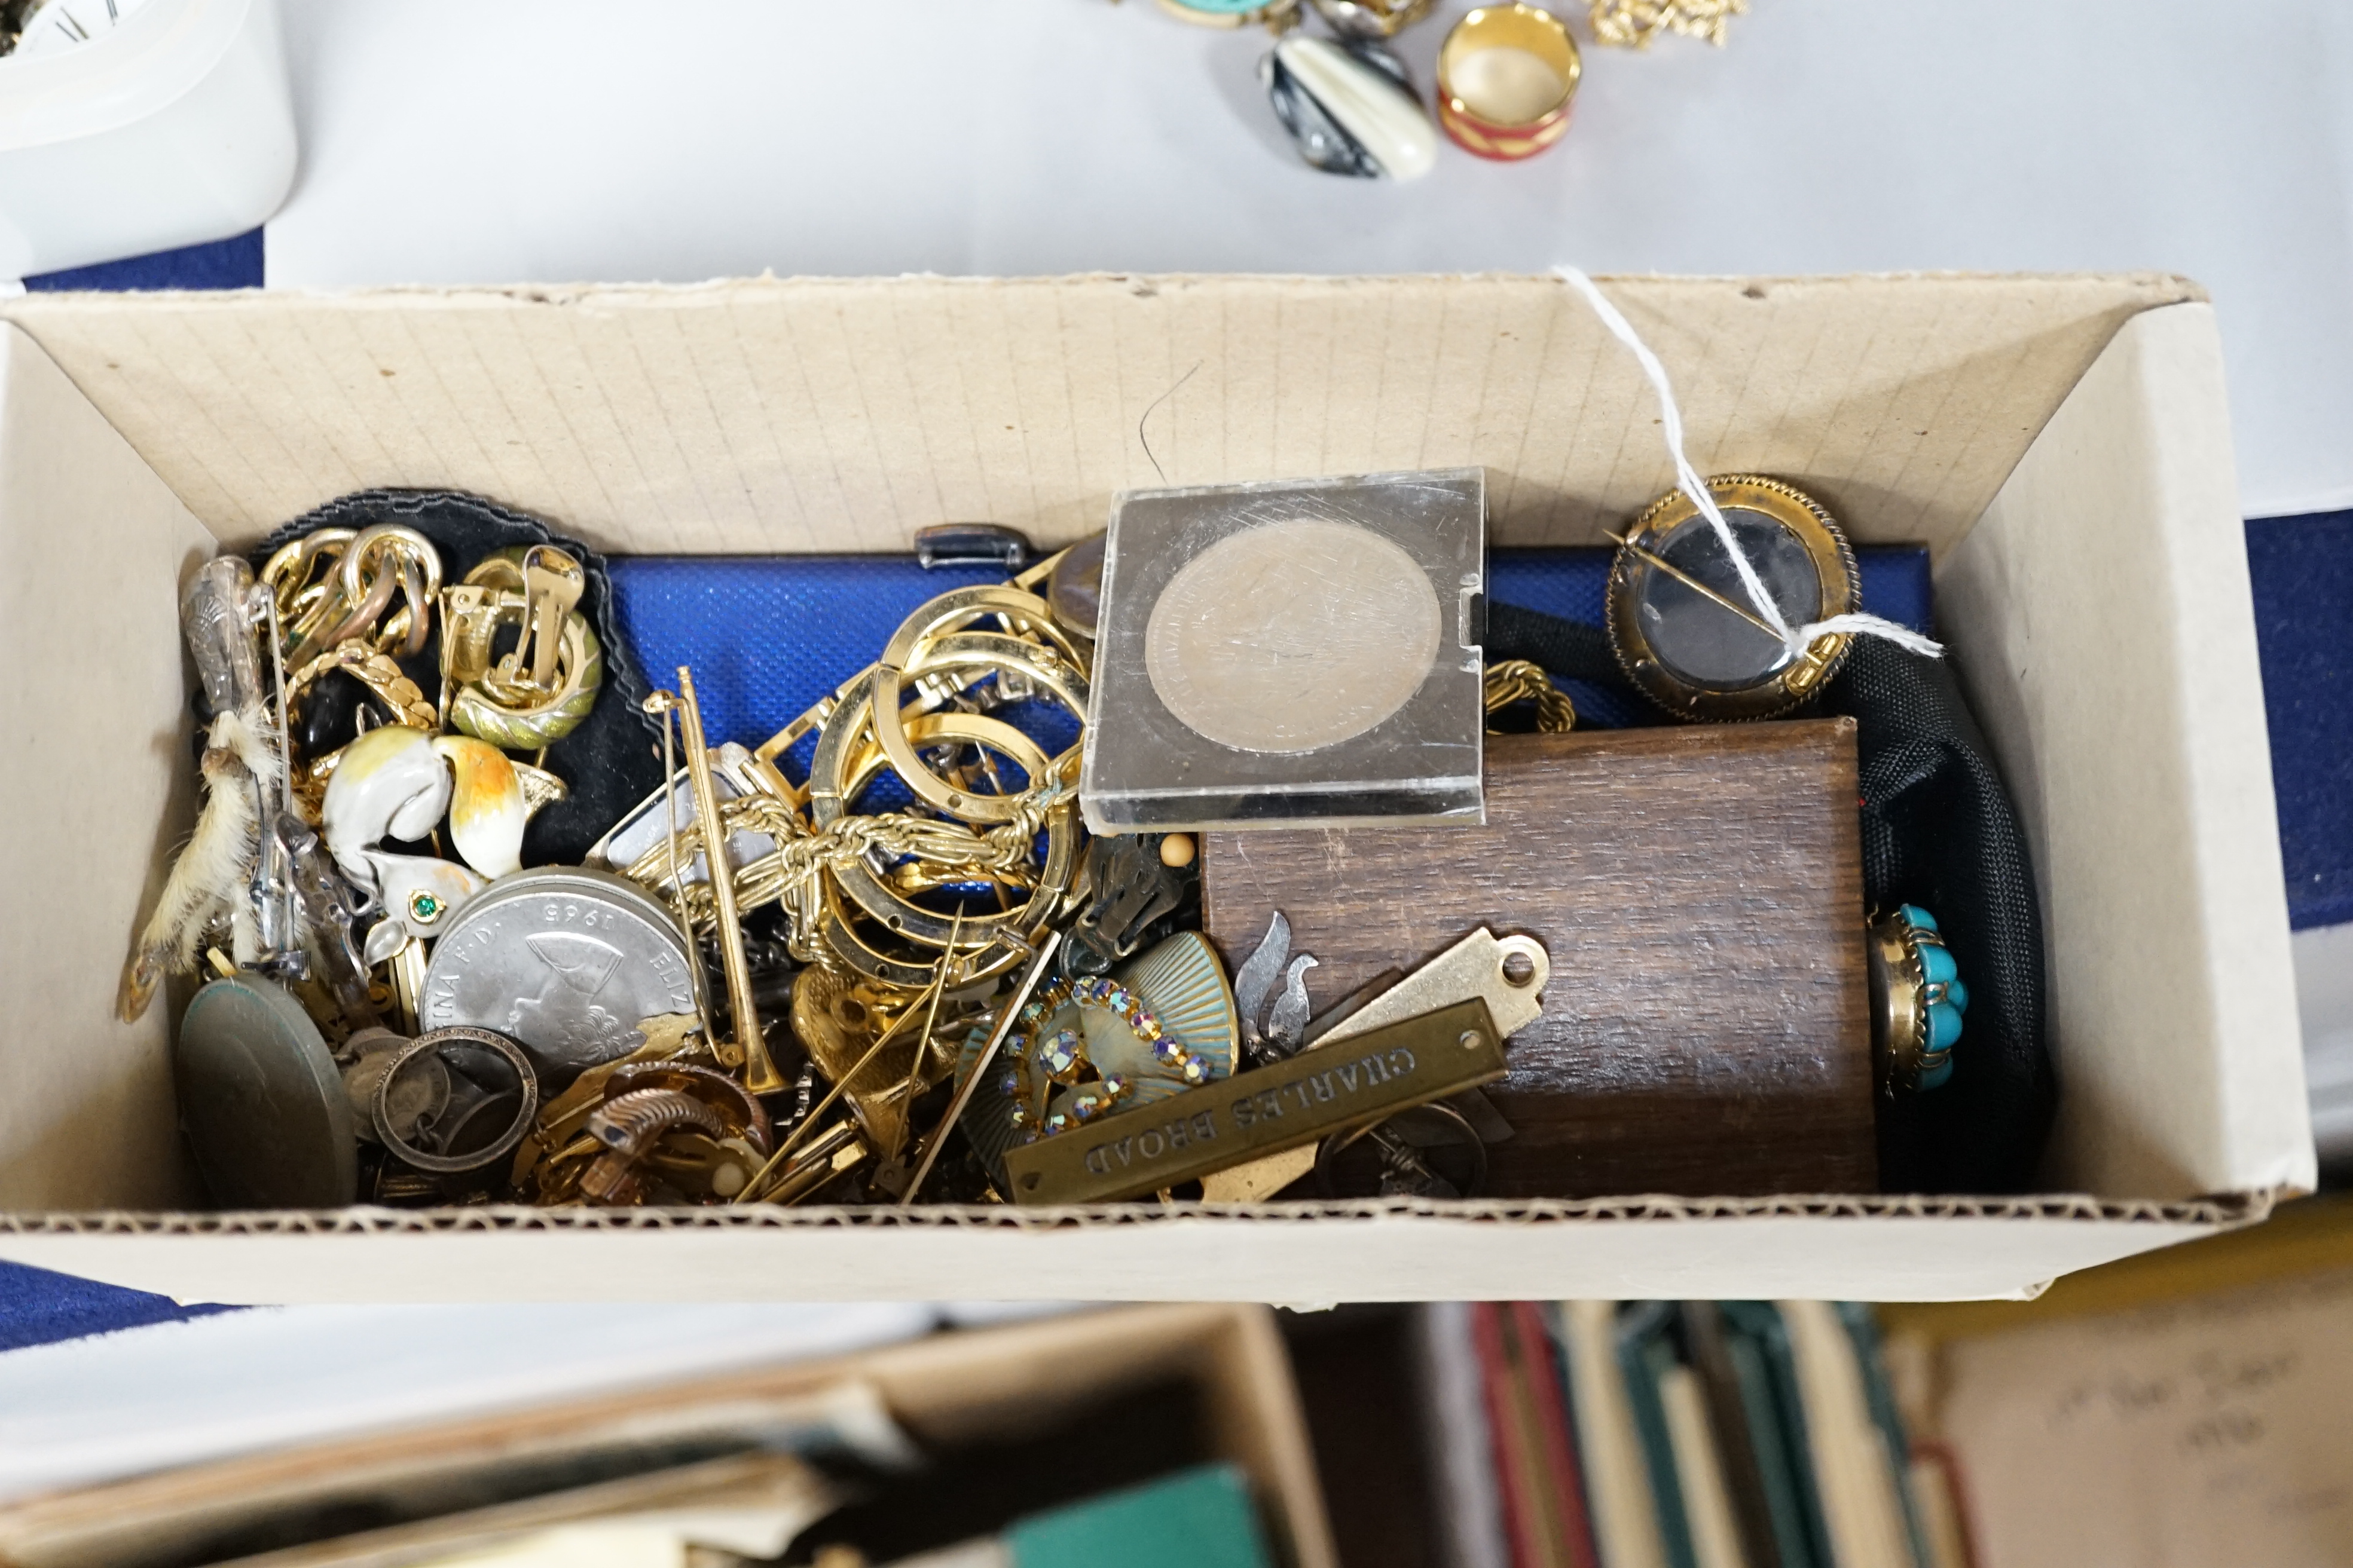
<svg viewBox="0 0 2353 1568">
<path fill-rule="evenodd" d="M 1741 534 L 1791 625 L 1859 609 L 1861 574 L 1828 508 L 1762 475 L 1715 475 L 1708 494 Z M 1704 559 L 1699 557 L 1704 552 Z M 1664 564 L 1661 564 L 1664 562 Z M 1715 569 L 1720 581 L 1706 581 Z M 1809 581 L 1807 581 L 1809 578 Z M 1680 489 L 1652 501 L 1619 543 L 1607 590 L 1609 646 L 1652 703 L 1678 719 L 1769 719 L 1821 691 L 1849 637 L 1814 637 L 1791 658 L 1762 628 L 1708 520 Z"/>
</svg>

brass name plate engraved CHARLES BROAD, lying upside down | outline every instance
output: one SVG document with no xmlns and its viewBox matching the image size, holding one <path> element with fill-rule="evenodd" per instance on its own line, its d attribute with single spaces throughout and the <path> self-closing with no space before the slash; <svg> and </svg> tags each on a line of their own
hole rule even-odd
<svg viewBox="0 0 2353 1568">
<path fill-rule="evenodd" d="M 1504 1077 L 1478 997 L 1005 1154 L 1014 1204 L 1108 1204 Z"/>
</svg>

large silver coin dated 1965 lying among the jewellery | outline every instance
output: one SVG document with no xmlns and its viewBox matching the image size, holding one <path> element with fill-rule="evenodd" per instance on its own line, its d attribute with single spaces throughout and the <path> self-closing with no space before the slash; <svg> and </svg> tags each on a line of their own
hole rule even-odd
<svg viewBox="0 0 2353 1568">
<path fill-rule="evenodd" d="M 621 877 L 546 867 L 501 877 L 433 945 L 419 1023 L 518 1041 L 551 1072 L 635 1051 L 640 1018 L 694 1011 L 678 922 Z"/>
</svg>

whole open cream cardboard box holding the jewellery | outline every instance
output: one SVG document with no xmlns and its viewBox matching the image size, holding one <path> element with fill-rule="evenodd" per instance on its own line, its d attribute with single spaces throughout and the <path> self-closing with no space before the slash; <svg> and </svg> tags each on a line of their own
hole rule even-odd
<svg viewBox="0 0 2353 1568">
<path fill-rule="evenodd" d="M 1548 277 L 31 296 L 0 315 L 0 1255 L 212 1300 L 2031 1293 L 2313 1180 L 2214 315 L 2174 277 L 1619 280 L 1706 470 L 1927 541 L 2031 835 L 2061 1110 L 2035 1199 L 1257 1211 L 198 1213 L 167 1009 L 111 1001 L 184 832 L 174 595 L 372 484 L 614 552 L 1059 545 L 1113 491 L 1480 463 L 1492 543 L 1668 489 Z M 1174 388 L 1174 390 L 1172 390 Z M 1497 912 L 1508 924 L 1511 912 Z"/>
</svg>

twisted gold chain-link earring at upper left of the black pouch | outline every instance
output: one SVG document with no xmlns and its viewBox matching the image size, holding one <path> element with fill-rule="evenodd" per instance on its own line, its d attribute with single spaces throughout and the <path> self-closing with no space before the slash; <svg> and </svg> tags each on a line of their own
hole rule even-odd
<svg viewBox="0 0 2353 1568">
<path fill-rule="evenodd" d="M 440 550 L 398 522 L 313 529 L 261 567 L 261 583 L 285 628 L 289 668 L 346 642 L 365 642 L 369 651 L 393 658 L 424 654 L 440 578 Z"/>
</svg>

